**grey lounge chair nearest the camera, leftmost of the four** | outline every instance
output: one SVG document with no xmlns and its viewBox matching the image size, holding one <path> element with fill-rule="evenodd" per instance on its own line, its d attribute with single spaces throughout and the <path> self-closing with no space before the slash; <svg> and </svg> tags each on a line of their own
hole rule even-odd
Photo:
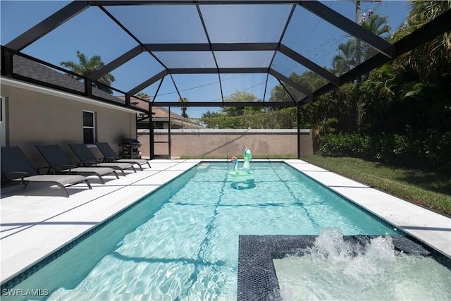
<svg viewBox="0 0 451 301">
<path fill-rule="evenodd" d="M 19 147 L 1 147 L 1 174 L 6 180 L 20 180 L 23 188 L 30 183 L 58 185 L 69 194 L 66 187 L 85 182 L 92 189 L 87 178 L 80 175 L 39 175 L 35 166 Z"/>
</svg>

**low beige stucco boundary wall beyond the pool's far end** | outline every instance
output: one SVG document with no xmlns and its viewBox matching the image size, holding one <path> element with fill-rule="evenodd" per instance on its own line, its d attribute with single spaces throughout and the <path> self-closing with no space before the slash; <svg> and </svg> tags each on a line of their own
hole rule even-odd
<svg viewBox="0 0 451 301">
<path fill-rule="evenodd" d="M 140 133 L 137 138 L 143 156 L 149 153 L 149 135 Z M 155 130 L 155 141 L 168 141 L 167 130 Z M 241 156 L 245 147 L 254 155 L 297 155 L 297 130 L 171 130 L 171 156 L 204 156 L 228 158 Z M 302 155 L 313 154 L 311 130 L 301 130 Z M 155 154 L 168 154 L 167 143 L 156 143 Z"/>
</svg>

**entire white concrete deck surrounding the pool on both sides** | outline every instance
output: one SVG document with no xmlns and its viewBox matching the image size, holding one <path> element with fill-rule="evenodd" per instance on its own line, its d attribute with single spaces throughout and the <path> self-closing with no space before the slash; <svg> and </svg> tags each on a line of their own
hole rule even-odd
<svg viewBox="0 0 451 301">
<path fill-rule="evenodd" d="M 20 185 L 1 189 L 1 283 L 20 274 L 48 254 L 59 250 L 90 228 L 168 183 L 200 161 L 152 160 L 152 168 L 126 171 L 127 176 L 106 176 L 102 185 L 89 177 L 92 190 L 79 184 L 67 188 Z M 451 219 L 423 207 L 339 176 L 305 161 L 285 161 L 340 195 L 451 258 Z"/>
</svg>

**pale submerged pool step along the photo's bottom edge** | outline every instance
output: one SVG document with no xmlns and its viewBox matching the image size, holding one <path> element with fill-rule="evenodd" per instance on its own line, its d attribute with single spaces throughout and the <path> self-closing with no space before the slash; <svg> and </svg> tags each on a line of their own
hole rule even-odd
<svg viewBox="0 0 451 301">
<path fill-rule="evenodd" d="M 52 293 L 47 300 L 52 301 L 92 301 L 92 300 L 108 300 L 108 301 L 154 301 L 154 300 L 173 300 L 173 297 L 168 295 L 149 295 L 149 294 L 115 294 L 109 292 L 89 292 L 83 290 L 66 290 L 59 288 Z"/>
</svg>

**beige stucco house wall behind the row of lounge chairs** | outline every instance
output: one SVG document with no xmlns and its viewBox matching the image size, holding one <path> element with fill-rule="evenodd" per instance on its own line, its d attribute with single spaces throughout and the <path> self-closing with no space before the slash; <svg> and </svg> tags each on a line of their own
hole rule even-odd
<svg viewBox="0 0 451 301">
<path fill-rule="evenodd" d="M 6 146 L 20 147 L 35 167 L 48 165 L 35 147 L 39 144 L 58 144 L 78 161 L 68 143 L 83 142 L 83 110 L 95 112 L 97 141 L 109 142 L 116 152 L 122 138 L 136 137 L 136 114 L 129 111 L 10 85 L 1 85 L 1 97 L 6 99 Z"/>
</svg>

